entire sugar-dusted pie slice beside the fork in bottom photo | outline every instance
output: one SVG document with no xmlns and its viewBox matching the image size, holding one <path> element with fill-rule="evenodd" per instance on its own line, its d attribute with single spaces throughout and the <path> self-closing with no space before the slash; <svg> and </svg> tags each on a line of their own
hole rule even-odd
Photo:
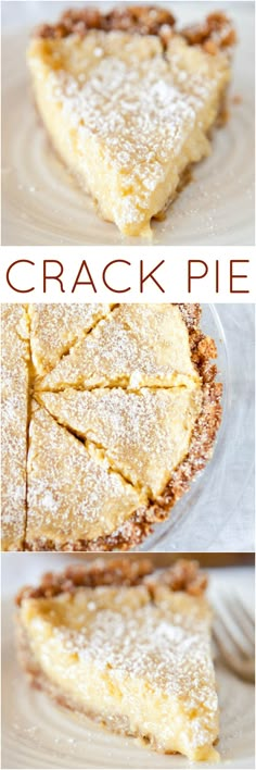
<svg viewBox="0 0 256 770">
<path fill-rule="evenodd" d="M 104 561 L 17 597 L 30 684 L 145 746 L 216 760 L 218 700 L 206 579 L 194 562 Z"/>
</svg>

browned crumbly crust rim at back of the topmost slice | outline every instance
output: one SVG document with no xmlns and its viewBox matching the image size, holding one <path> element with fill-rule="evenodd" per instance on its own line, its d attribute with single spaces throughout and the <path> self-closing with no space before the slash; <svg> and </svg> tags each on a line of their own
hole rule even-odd
<svg viewBox="0 0 256 770">
<path fill-rule="evenodd" d="M 154 5 L 132 5 L 115 9 L 110 13 L 89 8 L 71 9 L 61 15 L 56 24 L 43 24 L 38 27 L 35 35 L 42 38 L 63 38 L 77 34 L 84 37 L 90 29 L 157 35 L 164 46 L 176 32 L 182 35 L 189 45 L 201 45 L 208 53 L 230 48 L 236 40 L 231 21 L 220 11 L 210 13 L 201 24 L 179 30 L 172 13 Z"/>
</svg>

